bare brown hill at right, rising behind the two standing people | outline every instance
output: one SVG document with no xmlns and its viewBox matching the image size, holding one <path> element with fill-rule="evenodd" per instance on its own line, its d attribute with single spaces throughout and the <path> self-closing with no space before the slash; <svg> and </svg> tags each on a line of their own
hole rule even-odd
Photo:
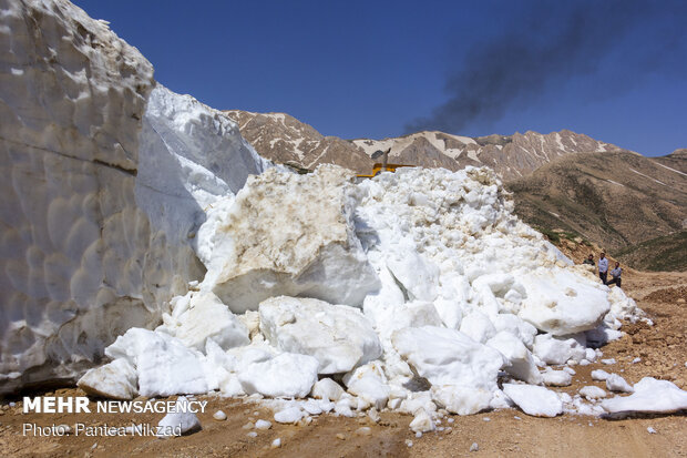
<svg viewBox="0 0 687 458">
<path fill-rule="evenodd" d="M 612 252 L 627 250 L 687 228 L 687 174 L 678 169 L 679 156 L 670 156 L 570 154 L 506 187 L 531 225 L 575 232 Z"/>
</svg>

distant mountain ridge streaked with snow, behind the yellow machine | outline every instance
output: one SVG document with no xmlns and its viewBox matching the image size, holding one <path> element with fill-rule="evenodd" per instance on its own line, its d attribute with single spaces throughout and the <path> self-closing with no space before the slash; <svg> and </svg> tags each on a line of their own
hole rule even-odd
<svg viewBox="0 0 687 458">
<path fill-rule="evenodd" d="M 335 163 L 359 173 L 370 172 L 375 161 L 369 156 L 377 150 L 390 147 L 389 161 L 392 163 L 452 171 L 465 165 L 486 165 L 509 181 L 571 153 L 625 151 L 567 130 L 479 138 L 424 131 L 384 140 L 342 140 L 325 136 L 285 113 L 240 110 L 226 113 L 238 123 L 242 135 L 260 155 L 305 169 Z"/>
</svg>

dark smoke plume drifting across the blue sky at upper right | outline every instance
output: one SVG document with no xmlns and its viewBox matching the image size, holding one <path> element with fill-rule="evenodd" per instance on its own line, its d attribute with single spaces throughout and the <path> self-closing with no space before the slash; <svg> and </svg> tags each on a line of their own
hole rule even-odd
<svg viewBox="0 0 687 458">
<path fill-rule="evenodd" d="M 460 71 L 447 80 L 448 101 L 430 116 L 407 124 L 407 132 L 459 133 L 468 123 L 499 120 L 506 110 L 531 104 L 574 77 L 597 73 L 608 57 L 617 78 L 602 81 L 602 93 L 594 96 L 627 91 L 652 72 L 685 75 L 687 1 L 521 4 L 527 6 L 524 21 L 513 18 L 493 41 L 471 45 Z M 637 44 L 629 51 L 621 45 L 628 39 Z"/>
</svg>

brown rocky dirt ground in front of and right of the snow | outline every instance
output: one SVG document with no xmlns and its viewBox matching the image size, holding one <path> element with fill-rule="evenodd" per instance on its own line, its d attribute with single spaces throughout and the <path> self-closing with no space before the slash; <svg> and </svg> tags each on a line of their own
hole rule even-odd
<svg viewBox="0 0 687 458">
<path fill-rule="evenodd" d="M 618 373 L 630 384 L 653 376 L 674 381 L 687 389 L 687 273 L 638 273 L 624 275 L 624 288 L 655 322 L 626 325 L 622 339 L 603 348 L 604 358 L 615 365 L 596 363 L 575 367 L 573 385 L 556 388 L 575 394 L 593 381 L 596 368 Z M 640 362 L 633 363 L 635 358 Z M 605 387 L 604 387 L 605 388 Z M 78 389 L 60 389 L 57 395 L 83 395 Z M 0 450 L 3 456 L 286 456 L 326 454 L 331 457 L 358 456 L 552 456 L 598 455 L 605 457 L 687 456 L 687 416 L 644 416 L 607 420 L 577 415 L 557 418 L 529 417 L 517 409 L 490 411 L 469 417 L 447 417 L 443 430 L 416 437 L 408 428 L 412 417 L 382 413 L 379 423 L 369 417 L 320 416 L 309 425 L 279 425 L 269 409 L 239 400 L 202 397 L 208 400 L 199 415 L 203 430 L 168 440 L 154 437 L 64 437 L 22 436 L 25 423 L 38 425 L 83 423 L 86 426 L 131 423 L 156 425 L 161 414 L 22 414 L 19 399 L 2 400 L 0 409 Z M 16 401 L 13 406 L 10 403 Z M 227 419 L 217 421 L 213 414 L 222 409 Z M 273 423 L 268 430 L 245 426 L 257 419 Z M 369 429 L 367 429 L 367 428 Z M 647 428 L 653 428 L 650 434 Z M 360 429 L 362 428 L 362 429 Z M 248 434 L 256 431 L 256 437 Z M 280 447 L 273 448 L 273 440 Z M 412 442 L 412 445 L 410 445 Z M 476 444 L 476 451 L 470 451 Z"/>
</svg>

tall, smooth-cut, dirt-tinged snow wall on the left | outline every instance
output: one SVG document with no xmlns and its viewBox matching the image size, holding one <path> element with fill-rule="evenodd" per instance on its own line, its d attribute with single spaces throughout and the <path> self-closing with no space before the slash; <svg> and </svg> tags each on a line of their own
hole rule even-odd
<svg viewBox="0 0 687 458">
<path fill-rule="evenodd" d="M 205 267 L 211 197 L 264 161 L 73 4 L 0 3 L 0 394 L 73 379 Z"/>
</svg>

